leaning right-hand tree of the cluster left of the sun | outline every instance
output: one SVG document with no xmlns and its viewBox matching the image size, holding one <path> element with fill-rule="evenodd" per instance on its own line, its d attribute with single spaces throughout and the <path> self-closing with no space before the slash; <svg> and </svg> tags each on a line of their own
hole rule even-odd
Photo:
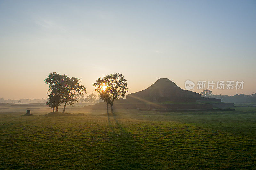
<svg viewBox="0 0 256 170">
<path fill-rule="evenodd" d="M 65 76 L 64 81 L 65 86 L 63 90 L 63 101 L 65 104 L 62 113 L 65 113 L 66 104 L 73 105 L 74 102 L 78 102 L 75 95 L 84 96 L 83 92 L 87 94 L 86 87 L 84 85 L 80 85 L 80 79 Z"/>
</svg>

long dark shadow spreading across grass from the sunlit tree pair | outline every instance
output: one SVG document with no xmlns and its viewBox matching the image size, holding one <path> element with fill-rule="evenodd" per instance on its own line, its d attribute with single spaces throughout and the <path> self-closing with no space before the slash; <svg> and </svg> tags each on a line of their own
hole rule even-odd
<svg viewBox="0 0 256 170">
<path fill-rule="evenodd" d="M 111 121 L 111 118 L 113 120 Z M 110 145 L 105 152 L 106 158 L 102 161 L 108 169 L 146 168 L 146 152 L 142 145 L 121 126 L 116 114 L 108 114 L 108 126 L 111 130 Z"/>
</svg>

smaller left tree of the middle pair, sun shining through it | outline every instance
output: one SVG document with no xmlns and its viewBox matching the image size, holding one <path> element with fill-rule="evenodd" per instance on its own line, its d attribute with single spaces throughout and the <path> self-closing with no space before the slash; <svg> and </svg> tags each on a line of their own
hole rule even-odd
<svg viewBox="0 0 256 170">
<path fill-rule="evenodd" d="M 107 113 L 108 113 L 108 105 L 111 104 L 112 100 L 110 98 L 110 91 L 107 84 L 108 84 L 107 79 L 105 79 L 105 77 L 103 78 L 100 77 L 96 80 L 93 86 L 96 87 L 94 91 L 98 93 L 100 99 L 102 99 L 107 104 Z"/>
</svg>

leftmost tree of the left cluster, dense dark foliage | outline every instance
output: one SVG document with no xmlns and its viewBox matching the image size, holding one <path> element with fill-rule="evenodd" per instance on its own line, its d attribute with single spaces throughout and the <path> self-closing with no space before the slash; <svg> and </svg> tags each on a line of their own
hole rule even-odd
<svg viewBox="0 0 256 170">
<path fill-rule="evenodd" d="M 67 77 L 66 75 L 60 75 L 56 72 L 53 72 L 53 73 L 50 73 L 49 77 L 44 80 L 45 83 L 49 85 L 49 90 L 48 90 L 48 93 L 50 92 L 49 98 L 51 98 L 51 100 L 56 100 L 54 102 L 53 101 L 51 102 L 51 104 L 55 104 L 55 107 L 56 107 L 55 112 L 58 112 L 58 106 L 60 106 L 60 103 L 62 103 L 63 101 L 63 92 L 65 87 L 66 77 Z"/>
</svg>

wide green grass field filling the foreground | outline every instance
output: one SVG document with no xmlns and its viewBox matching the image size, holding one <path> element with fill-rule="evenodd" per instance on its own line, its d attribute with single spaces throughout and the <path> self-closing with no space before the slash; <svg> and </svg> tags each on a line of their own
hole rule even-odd
<svg viewBox="0 0 256 170">
<path fill-rule="evenodd" d="M 27 107 L 27 106 L 26 106 Z M 255 169 L 256 107 L 225 112 L 0 110 L 0 169 Z"/>
</svg>

